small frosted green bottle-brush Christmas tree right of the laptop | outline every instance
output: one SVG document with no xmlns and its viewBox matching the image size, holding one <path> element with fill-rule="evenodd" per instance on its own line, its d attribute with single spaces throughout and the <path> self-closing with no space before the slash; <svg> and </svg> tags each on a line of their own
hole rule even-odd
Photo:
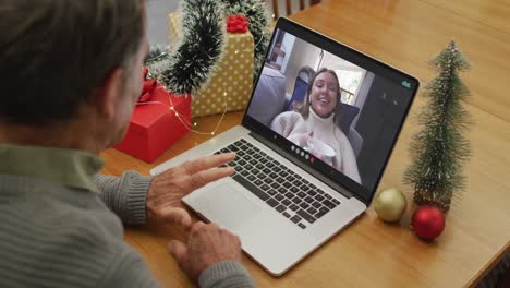
<svg viewBox="0 0 510 288">
<path fill-rule="evenodd" d="M 413 137 L 413 163 L 404 181 L 414 185 L 414 202 L 447 212 L 453 193 L 463 187 L 462 164 L 471 154 L 462 134 L 471 123 L 470 116 L 461 104 L 470 93 L 458 74 L 470 64 L 453 40 L 430 64 L 438 75 L 425 87 L 429 101 L 418 117 L 423 128 Z"/>
</svg>

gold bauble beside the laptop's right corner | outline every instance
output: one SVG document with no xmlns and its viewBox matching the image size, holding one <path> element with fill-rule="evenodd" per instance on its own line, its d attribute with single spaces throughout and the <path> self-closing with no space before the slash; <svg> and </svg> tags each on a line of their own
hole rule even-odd
<svg viewBox="0 0 510 288">
<path fill-rule="evenodd" d="M 384 221 L 399 221 L 405 213 L 408 201 L 404 194 L 397 188 L 381 191 L 374 202 L 374 208 Z"/>
</svg>

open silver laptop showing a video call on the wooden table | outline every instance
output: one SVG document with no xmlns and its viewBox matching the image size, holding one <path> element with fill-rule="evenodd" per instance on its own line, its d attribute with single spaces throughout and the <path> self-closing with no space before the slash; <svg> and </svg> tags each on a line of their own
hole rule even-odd
<svg viewBox="0 0 510 288">
<path fill-rule="evenodd" d="M 280 276 L 364 214 L 418 81 L 283 17 L 260 71 L 240 125 L 150 173 L 236 152 L 234 175 L 182 202 L 238 235 L 248 256 Z"/>
</svg>

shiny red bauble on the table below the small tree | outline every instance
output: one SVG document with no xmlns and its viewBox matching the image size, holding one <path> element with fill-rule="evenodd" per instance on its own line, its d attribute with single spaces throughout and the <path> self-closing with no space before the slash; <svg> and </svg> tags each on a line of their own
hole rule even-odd
<svg viewBox="0 0 510 288">
<path fill-rule="evenodd" d="M 423 205 L 414 211 L 411 226 L 421 239 L 433 241 L 445 229 L 445 215 L 436 206 Z"/>
</svg>

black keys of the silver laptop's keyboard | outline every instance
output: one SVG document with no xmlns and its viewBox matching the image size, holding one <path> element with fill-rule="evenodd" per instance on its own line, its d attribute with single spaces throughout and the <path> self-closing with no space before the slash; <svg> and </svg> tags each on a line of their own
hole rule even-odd
<svg viewBox="0 0 510 288">
<path fill-rule="evenodd" d="M 283 217 L 302 229 L 326 215 L 340 201 L 241 139 L 215 154 L 235 152 L 228 165 L 233 180 L 245 187 Z"/>
</svg>

